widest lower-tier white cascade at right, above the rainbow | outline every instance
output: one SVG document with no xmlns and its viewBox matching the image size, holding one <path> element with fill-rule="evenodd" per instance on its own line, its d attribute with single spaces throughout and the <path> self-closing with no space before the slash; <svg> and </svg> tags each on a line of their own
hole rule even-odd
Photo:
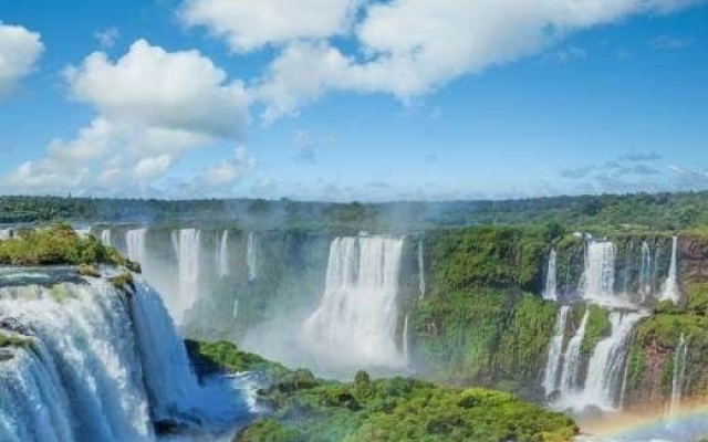
<svg viewBox="0 0 708 442">
<path fill-rule="evenodd" d="M 644 313 L 611 312 L 611 335 L 595 346 L 587 366 L 587 378 L 582 393 L 570 398 L 577 410 L 595 406 L 605 411 L 616 411 L 620 404 L 624 367 L 629 336 Z"/>
</svg>

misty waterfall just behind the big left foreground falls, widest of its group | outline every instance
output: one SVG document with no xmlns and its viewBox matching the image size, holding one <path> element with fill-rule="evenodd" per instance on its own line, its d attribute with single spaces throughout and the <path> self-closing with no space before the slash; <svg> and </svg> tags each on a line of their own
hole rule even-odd
<svg viewBox="0 0 708 442">
<path fill-rule="evenodd" d="M 197 229 L 174 231 L 173 243 L 177 251 L 179 287 L 177 296 L 168 296 L 165 303 L 177 325 L 181 325 L 185 313 L 195 305 L 199 294 L 201 231 Z"/>
</svg>

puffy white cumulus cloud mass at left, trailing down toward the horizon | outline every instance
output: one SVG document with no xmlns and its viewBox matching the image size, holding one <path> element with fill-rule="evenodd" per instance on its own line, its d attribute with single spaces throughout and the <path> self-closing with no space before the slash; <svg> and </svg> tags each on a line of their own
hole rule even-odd
<svg viewBox="0 0 708 442">
<path fill-rule="evenodd" d="M 70 140 L 52 140 L 43 158 L 10 173 L 10 190 L 77 192 L 131 177 L 147 188 L 185 154 L 219 140 L 238 143 L 249 122 L 241 82 L 197 51 L 167 52 L 144 40 L 112 61 L 94 52 L 64 71 L 73 99 L 96 116 Z M 222 173 L 223 176 L 223 173 Z"/>
</svg>

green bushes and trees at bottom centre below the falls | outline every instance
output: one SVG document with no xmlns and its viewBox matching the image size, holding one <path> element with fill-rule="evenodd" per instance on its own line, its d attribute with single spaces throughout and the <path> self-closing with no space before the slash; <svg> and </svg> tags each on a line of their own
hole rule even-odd
<svg viewBox="0 0 708 442">
<path fill-rule="evenodd" d="M 364 371 L 353 382 L 326 382 L 227 343 L 188 347 L 223 368 L 280 372 L 260 392 L 273 414 L 247 427 L 235 442 L 563 442 L 577 433 L 570 418 L 508 393 L 404 378 L 372 380 Z"/>
</svg>

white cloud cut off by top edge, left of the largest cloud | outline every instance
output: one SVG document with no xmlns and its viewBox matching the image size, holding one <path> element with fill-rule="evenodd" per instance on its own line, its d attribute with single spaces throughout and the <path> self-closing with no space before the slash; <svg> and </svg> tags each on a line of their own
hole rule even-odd
<svg viewBox="0 0 708 442">
<path fill-rule="evenodd" d="M 233 52 L 347 32 L 362 0 L 188 0 L 179 17 L 226 38 Z"/>
</svg>

